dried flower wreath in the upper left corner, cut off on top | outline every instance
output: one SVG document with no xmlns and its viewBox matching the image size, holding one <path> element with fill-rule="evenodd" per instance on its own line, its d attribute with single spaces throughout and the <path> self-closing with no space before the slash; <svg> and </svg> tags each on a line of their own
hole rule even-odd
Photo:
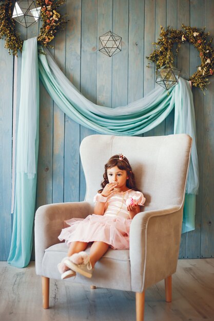
<svg viewBox="0 0 214 321">
<path fill-rule="evenodd" d="M 37 0 L 38 7 L 41 7 L 41 17 L 43 25 L 37 41 L 43 46 L 49 46 L 49 43 L 55 37 L 58 30 L 65 27 L 65 17 L 57 12 L 65 0 Z M 0 5 L 0 39 L 5 38 L 5 48 L 8 52 L 17 56 L 18 50 L 22 51 L 23 40 L 20 34 L 15 31 L 15 22 L 12 19 L 12 1 L 6 0 Z"/>
</svg>

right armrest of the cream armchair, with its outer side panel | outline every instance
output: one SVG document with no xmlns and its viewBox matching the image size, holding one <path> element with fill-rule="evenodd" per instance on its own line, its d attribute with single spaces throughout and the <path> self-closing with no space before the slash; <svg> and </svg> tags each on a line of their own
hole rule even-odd
<svg viewBox="0 0 214 321">
<path fill-rule="evenodd" d="M 183 206 L 141 212 L 130 227 L 131 289 L 142 292 L 176 272 Z"/>
</svg>

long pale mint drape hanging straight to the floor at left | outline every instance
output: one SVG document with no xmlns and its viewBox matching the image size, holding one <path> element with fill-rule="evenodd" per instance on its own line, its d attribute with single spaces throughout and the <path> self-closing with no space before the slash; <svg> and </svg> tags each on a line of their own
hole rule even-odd
<svg viewBox="0 0 214 321">
<path fill-rule="evenodd" d="M 39 82 L 37 39 L 24 42 L 16 149 L 13 229 L 8 263 L 23 268 L 32 251 L 38 157 Z"/>
</svg>

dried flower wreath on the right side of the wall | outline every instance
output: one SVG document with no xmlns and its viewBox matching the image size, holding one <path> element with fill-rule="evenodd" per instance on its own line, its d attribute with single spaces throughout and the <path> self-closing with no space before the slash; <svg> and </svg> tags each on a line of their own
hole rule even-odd
<svg viewBox="0 0 214 321">
<path fill-rule="evenodd" d="M 201 58 L 201 66 L 198 66 L 197 71 L 189 77 L 194 87 L 200 87 L 202 91 L 206 89 L 209 84 L 208 76 L 214 74 L 214 50 L 211 47 L 212 38 L 207 39 L 209 32 L 205 33 L 204 29 L 197 29 L 196 27 L 187 27 L 182 24 L 183 30 L 169 29 L 166 31 L 161 26 L 160 38 L 157 43 L 153 45 L 159 46 L 154 50 L 149 57 L 150 61 L 156 63 L 157 69 L 164 65 L 173 65 L 174 57 L 178 54 L 181 44 L 185 41 L 192 44 L 198 51 Z M 176 54 L 172 52 L 172 47 L 177 44 Z"/>
</svg>

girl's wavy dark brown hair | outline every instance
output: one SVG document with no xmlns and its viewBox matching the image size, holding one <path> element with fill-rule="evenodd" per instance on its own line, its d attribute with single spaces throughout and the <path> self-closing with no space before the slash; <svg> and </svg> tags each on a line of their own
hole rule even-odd
<svg viewBox="0 0 214 321">
<path fill-rule="evenodd" d="M 124 157 L 123 160 L 121 160 L 119 159 L 119 157 L 120 155 L 113 155 L 105 164 L 105 172 L 103 174 L 104 179 L 102 180 L 102 183 L 101 183 L 102 189 L 100 189 L 98 193 L 102 193 L 106 184 L 109 183 L 108 176 L 107 176 L 107 169 L 110 169 L 114 166 L 118 166 L 119 169 L 126 171 L 128 176 L 128 179 L 126 180 L 126 186 L 134 191 L 139 191 L 139 189 L 136 187 L 134 173 L 132 172 L 131 165 L 129 164 L 128 159 Z"/>
</svg>

